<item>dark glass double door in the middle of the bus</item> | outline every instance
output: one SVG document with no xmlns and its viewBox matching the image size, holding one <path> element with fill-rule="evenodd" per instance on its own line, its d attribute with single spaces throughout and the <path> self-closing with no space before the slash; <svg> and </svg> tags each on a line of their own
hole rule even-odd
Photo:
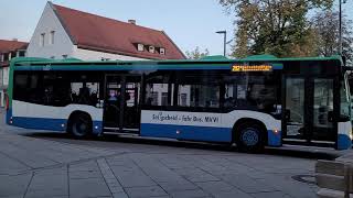
<svg viewBox="0 0 353 198">
<path fill-rule="evenodd" d="M 140 81 L 140 76 L 106 76 L 105 132 L 139 132 Z"/>
</svg>

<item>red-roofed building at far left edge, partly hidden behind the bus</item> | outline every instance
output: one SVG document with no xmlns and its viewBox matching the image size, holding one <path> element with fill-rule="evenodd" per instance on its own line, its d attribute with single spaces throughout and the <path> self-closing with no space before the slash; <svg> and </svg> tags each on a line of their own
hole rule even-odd
<svg viewBox="0 0 353 198">
<path fill-rule="evenodd" d="M 4 95 L 9 84 L 9 62 L 13 57 L 25 56 L 29 43 L 17 40 L 0 40 L 0 107 L 4 106 Z"/>
</svg>

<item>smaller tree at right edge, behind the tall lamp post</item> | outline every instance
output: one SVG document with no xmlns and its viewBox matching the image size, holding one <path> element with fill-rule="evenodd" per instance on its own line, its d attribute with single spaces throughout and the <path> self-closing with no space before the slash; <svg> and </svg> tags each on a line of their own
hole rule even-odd
<svg viewBox="0 0 353 198">
<path fill-rule="evenodd" d="M 340 18 L 338 11 L 325 10 L 312 18 L 319 56 L 339 54 Z M 342 48 L 347 61 L 353 62 L 353 26 L 352 21 L 342 16 Z"/>
</svg>

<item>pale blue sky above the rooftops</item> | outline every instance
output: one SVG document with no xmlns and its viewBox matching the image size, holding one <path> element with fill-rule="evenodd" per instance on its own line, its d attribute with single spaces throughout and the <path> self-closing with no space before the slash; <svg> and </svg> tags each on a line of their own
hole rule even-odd
<svg viewBox="0 0 353 198">
<path fill-rule="evenodd" d="M 338 0 L 336 0 L 338 1 Z M 343 11 L 353 20 L 353 0 Z M 55 4 L 116 19 L 137 20 L 137 24 L 163 30 L 183 51 L 196 46 L 211 55 L 223 54 L 223 35 L 234 36 L 234 16 L 226 14 L 218 0 L 52 0 Z M 7 0 L 0 6 L 0 38 L 29 42 L 46 0 Z M 231 46 L 227 45 L 227 53 Z"/>
</svg>

